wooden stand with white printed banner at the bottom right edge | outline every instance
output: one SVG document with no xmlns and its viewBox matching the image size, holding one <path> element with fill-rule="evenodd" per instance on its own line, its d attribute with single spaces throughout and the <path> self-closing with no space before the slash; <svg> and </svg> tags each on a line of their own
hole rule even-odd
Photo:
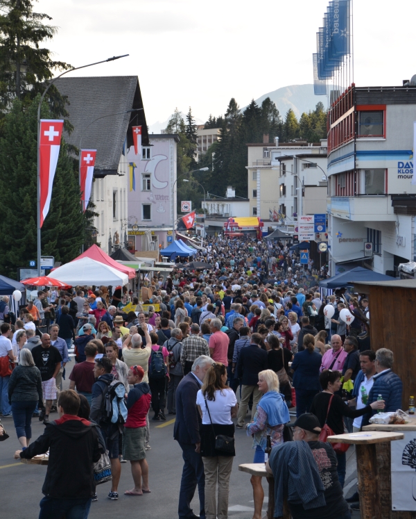
<svg viewBox="0 0 416 519">
<path fill-rule="evenodd" d="M 416 518 L 416 418 L 404 425 L 370 424 L 363 427 L 363 431 L 404 435 L 403 440 L 392 443 L 391 447 L 381 443 L 376 448 L 379 486 L 385 494 L 381 496 L 385 505 L 381 512 L 382 517 L 388 519 Z"/>
</svg>

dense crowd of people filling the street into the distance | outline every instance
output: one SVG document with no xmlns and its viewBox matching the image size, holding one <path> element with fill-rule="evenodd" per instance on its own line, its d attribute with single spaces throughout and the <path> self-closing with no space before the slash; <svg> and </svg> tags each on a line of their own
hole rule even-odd
<svg viewBox="0 0 416 519">
<path fill-rule="evenodd" d="M 267 461 L 270 442 L 267 467 L 275 475 L 277 513 L 289 481 L 294 519 L 304 518 L 306 509 L 311 519 L 350 517 L 342 490 L 345 452 L 319 440 L 322 427 L 328 424 L 334 434 L 358 431 L 377 410 L 401 406 L 392 352 L 370 349 L 361 319 L 369 302 L 345 289 L 322 293 L 326 268 L 317 271 L 310 263 L 304 270 L 281 243 L 209 238 L 196 259 L 207 268 L 177 265 L 166 279 L 148 281 L 141 302 L 127 287 L 45 289 L 10 324 L 3 298 L 1 411 L 14 420 L 21 445 L 16 456 L 49 450 L 41 518 L 52 517 L 60 502 L 68 513 L 73 495 L 73 517 L 87 517 L 98 499 L 94 463 L 102 465 L 103 456 L 111 468 L 110 500 L 119 498 L 125 461 L 134 482 L 125 495 L 150 493 L 149 420 L 164 421 L 166 415 L 175 418 L 174 438 L 184 460 L 180 518 L 196 517 L 191 500 L 197 487 L 199 517 L 227 517 L 235 429 L 252 437 L 254 463 Z M 135 311 L 123 311 L 129 303 Z M 334 308 L 331 319 L 323 313 L 326 304 Z M 356 317 L 354 326 L 340 319 L 343 308 Z M 69 390 L 62 390 L 72 348 L 75 365 Z M 51 413 L 60 418 L 52 421 Z M 46 429 L 31 443 L 35 416 Z M 64 443 L 57 429 L 66 431 Z M 70 449 L 79 434 L 85 435 L 89 465 L 85 457 L 71 460 L 63 474 L 54 453 Z M 309 488 L 291 485 L 289 458 L 302 459 L 293 471 L 310 478 Z M 83 493 L 75 491 L 77 481 L 85 485 Z M 251 483 L 253 519 L 260 519 L 261 477 Z"/>
</svg>

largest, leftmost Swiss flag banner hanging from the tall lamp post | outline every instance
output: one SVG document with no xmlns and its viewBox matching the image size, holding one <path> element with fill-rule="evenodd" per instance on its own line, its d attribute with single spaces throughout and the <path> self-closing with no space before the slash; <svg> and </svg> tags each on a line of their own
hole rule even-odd
<svg viewBox="0 0 416 519">
<path fill-rule="evenodd" d="M 63 120 L 40 120 L 39 175 L 40 226 L 42 227 L 51 205 L 53 179 L 58 164 Z"/>
</svg>

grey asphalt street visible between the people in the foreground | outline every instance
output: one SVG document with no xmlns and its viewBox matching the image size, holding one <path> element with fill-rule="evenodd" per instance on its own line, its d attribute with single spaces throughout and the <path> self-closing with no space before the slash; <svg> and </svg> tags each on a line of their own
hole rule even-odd
<svg viewBox="0 0 416 519">
<path fill-rule="evenodd" d="M 70 364 L 71 366 L 71 364 Z M 71 369 L 71 368 L 70 368 Z M 68 387 L 68 379 L 64 381 L 64 388 Z M 51 418 L 58 418 L 57 414 Z M 29 466 L 12 458 L 13 453 L 19 448 L 12 418 L 3 418 L 10 438 L 0 443 L 0 484 L 3 500 L 1 504 L 1 517 L 5 519 L 37 519 L 39 514 L 39 501 L 42 498 L 42 484 L 46 467 Z M 42 434 L 44 426 L 39 420 L 33 419 L 33 438 Z M 148 518 L 177 518 L 177 497 L 180 489 L 180 477 L 182 474 L 182 451 L 173 440 L 173 420 L 166 422 L 150 422 L 150 445 L 148 451 L 148 463 L 150 470 L 150 489 L 152 493 L 138 497 L 123 495 L 125 490 L 132 488 L 130 463 L 121 466 L 121 480 L 119 485 L 119 501 L 107 499 L 110 483 L 97 487 L 98 502 L 92 503 L 91 519 L 114 518 L 116 516 L 130 517 L 139 513 L 141 517 Z M 245 430 L 236 430 L 236 458 L 230 481 L 229 493 L 229 517 L 235 519 L 251 519 L 253 509 L 252 487 L 250 476 L 239 472 L 240 463 L 251 463 L 253 459 L 251 438 L 245 434 Z M 351 462 L 347 468 L 346 488 L 349 490 L 349 482 L 356 475 L 354 451 Z M 267 496 L 268 485 L 263 481 Z M 198 496 L 198 492 L 196 493 Z M 267 509 L 267 500 L 263 509 Z M 193 510 L 198 513 L 198 497 L 194 500 Z M 136 517 L 133 516 L 133 517 Z M 359 515 L 353 516 L 358 519 Z"/>
</svg>

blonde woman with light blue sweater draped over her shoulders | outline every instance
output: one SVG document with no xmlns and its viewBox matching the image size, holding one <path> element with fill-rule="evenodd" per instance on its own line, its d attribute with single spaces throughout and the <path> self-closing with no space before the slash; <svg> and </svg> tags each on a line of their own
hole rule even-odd
<svg viewBox="0 0 416 519">
<path fill-rule="evenodd" d="M 272 447 L 283 443 L 284 425 L 291 421 L 288 406 L 279 393 L 279 377 L 272 370 L 259 372 L 259 390 L 263 393 L 252 423 L 247 424 L 247 434 L 253 437 L 253 463 L 265 463 L 267 436 L 270 435 Z M 264 492 L 261 476 L 252 476 L 251 484 L 254 495 L 253 519 L 261 519 Z"/>
</svg>

